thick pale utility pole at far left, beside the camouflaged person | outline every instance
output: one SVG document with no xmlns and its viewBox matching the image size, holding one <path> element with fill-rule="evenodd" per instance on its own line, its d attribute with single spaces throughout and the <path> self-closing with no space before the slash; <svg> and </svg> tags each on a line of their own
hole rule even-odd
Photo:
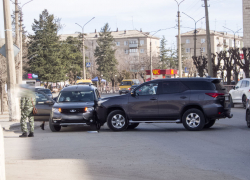
<svg viewBox="0 0 250 180">
<path fill-rule="evenodd" d="M 11 27 L 11 16 L 10 16 L 10 3 L 9 0 L 3 0 L 3 11 L 4 11 L 4 31 L 5 31 L 5 48 L 6 48 L 6 59 L 7 59 L 7 85 L 8 85 L 8 105 L 9 105 L 9 120 L 17 121 L 17 102 L 16 102 L 16 71 L 15 71 L 15 60 L 14 60 L 14 48 L 12 39 L 12 27 Z"/>
</svg>

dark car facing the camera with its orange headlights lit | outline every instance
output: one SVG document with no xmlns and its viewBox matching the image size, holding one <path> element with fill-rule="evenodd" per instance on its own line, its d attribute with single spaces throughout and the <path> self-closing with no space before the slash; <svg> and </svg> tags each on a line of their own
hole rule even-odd
<svg viewBox="0 0 250 180">
<path fill-rule="evenodd" d="M 74 85 L 65 87 L 59 93 L 49 119 L 52 132 L 71 125 L 90 125 L 99 130 L 100 123 L 95 118 L 95 106 L 100 94 L 95 86 Z"/>
</svg>

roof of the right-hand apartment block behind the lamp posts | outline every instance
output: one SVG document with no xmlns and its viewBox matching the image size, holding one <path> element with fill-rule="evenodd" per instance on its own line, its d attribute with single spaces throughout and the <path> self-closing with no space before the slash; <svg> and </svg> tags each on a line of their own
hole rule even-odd
<svg viewBox="0 0 250 180">
<path fill-rule="evenodd" d="M 194 35 L 194 30 L 192 31 L 188 31 L 185 33 L 182 33 L 181 36 L 193 36 Z M 201 29 L 198 28 L 197 29 L 197 36 L 204 36 L 206 35 L 206 29 Z M 227 37 L 227 38 L 233 38 L 234 35 L 233 34 L 229 34 L 227 32 L 220 32 L 220 31 L 214 31 L 214 30 L 210 30 L 210 35 L 214 35 L 214 36 L 221 36 L 221 37 Z M 177 37 L 177 36 L 176 36 Z M 242 39 L 243 37 L 241 36 L 236 36 L 237 39 Z"/>
</svg>

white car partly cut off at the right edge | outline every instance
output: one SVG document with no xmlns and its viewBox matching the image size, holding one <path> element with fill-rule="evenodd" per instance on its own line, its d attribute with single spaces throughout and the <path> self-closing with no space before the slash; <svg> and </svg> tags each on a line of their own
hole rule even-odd
<svg viewBox="0 0 250 180">
<path fill-rule="evenodd" d="M 234 104 L 243 104 L 243 107 L 246 108 L 246 100 L 250 95 L 250 78 L 245 78 L 240 80 L 234 89 L 229 91 L 231 107 L 234 107 Z"/>
</svg>

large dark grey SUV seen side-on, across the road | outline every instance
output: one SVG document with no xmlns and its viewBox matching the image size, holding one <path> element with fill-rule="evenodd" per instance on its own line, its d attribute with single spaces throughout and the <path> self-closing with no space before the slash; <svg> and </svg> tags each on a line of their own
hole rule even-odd
<svg viewBox="0 0 250 180">
<path fill-rule="evenodd" d="M 229 94 L 220 79 L 157 79 L 131 94 L 102 98 L 96 107 L 101 123 L 113 131 L 139 123 L 182 123 L 187 130 L 210 128 L 216 119 L 231 118 Z"/>
</svg>

